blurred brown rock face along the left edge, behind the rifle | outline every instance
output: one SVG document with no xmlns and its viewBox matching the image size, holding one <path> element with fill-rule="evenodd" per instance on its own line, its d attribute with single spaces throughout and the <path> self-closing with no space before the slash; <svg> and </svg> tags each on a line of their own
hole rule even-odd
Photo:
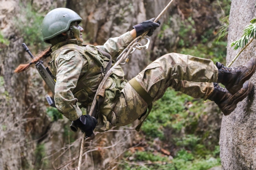
<svg viewBox="0 0 256 170">
<path fill-rule="evenodd" d="M 20 48 L 23 38 L 12 29 L 19 2 L 0 4 L 1 32 L 10 42 L 1 44 L 0 51 L 0 169 L 23 169 L 33 165 L 36 143 L 46 133 L 50 119 L 45 114 L 46 93 L 35 70 L 14 74 L 18 63 L 29 59 Z"/>
</svg>

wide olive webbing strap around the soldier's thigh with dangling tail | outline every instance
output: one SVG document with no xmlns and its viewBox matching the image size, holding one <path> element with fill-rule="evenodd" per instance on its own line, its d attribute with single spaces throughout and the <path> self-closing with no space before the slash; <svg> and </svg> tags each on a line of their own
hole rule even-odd
<svg viewBox="0 0 256 170">
<path fill-rule="evenodd" d="M 141 85 L 138 83 L 138 81 L 133 78 L 129 81 L 130 85 L 133 87 L 133 89 L 139 94 L 139 96 L 142 97 L 142 99 L 148 104 L 147 110 L 139 117 L 139 120 L 145 115 L 146 117 L 142 120 L 142 122 L 135 128 L 136 131 L 139 132 L 140 127 L 142 126 L 142 123 L 145 121 L 145 119 L 148 117 L 149 113 L 152 110 L 153 101 L 152 97 L 148 94 L 146 90 L 144 90 Z"/>
</svg>

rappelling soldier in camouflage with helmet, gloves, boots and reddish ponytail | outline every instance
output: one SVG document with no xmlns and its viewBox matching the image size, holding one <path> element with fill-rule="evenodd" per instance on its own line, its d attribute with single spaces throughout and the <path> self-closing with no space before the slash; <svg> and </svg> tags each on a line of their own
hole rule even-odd
<svg viewBox="0 0 256 170">
<path fill-rule="evenodd" d="M 144 115 L 152 102 L 160 99 L 168 87 L 194 98 L 214 101 L 224 115 L 230 114 L 250 93 L 253 84 L 248 80 L 255 72 L 256 59 L 245 65 L 227 68 L 209 59 L 177 53 L 166 54 L 148 65 L 127 82 L 120 66 L 108 78 L 99 106 L 97 120 L 82 115 L 78 102 L 88 110 L 108 62 L 117 58 L 137 36 L 150 30 L 151 36 L 160 22 L 144 21 L 120 37 L 110 38 L 102 46 L 83 46 L 82 18 L 67 8 L 50 11 L 42 22 L 42 35 L 52 46 L 30 64 L 51 56 L 51 71 L 56 77 L 55 105 L 65 117 L 86 135 L 93 130 L 105 132 L 113 126 L 127 125 Z M 26 68 L 17 68 L 16 72 Z M 213 83 L 214 82 L 214 83 Z M 226 88 L 218 85 L 222 83 Z M 99 100 L 99 99 L 98 99 Z"/>
</svg>

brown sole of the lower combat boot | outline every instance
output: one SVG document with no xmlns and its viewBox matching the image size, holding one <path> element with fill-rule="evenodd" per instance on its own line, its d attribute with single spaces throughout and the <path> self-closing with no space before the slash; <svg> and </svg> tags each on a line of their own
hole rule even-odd
<svg viewBox="0 0 256 170">
<path fill-rule="evenodd" d="M 246 82 L 245 82 L 246 83 Z M 232 113 L 235 108 L 236 108 L 236 105 L 237 103 L 241 102 L 243 99 L 245 99 L 246 96 L 248 96 L 248 94 L 251 92 L 253 88 L 253 83 L 251 83 L 251 81 L 249 81 L 248 83 L 248 89 L 246 90 L 246 92 L 240 96 L 239 98 L 235 99 L 229 106 L 227 106 L 222 112 L 225 116 L 229 115 L 230 113 Z M 239 91 L 238 91 L 239 92 Z M 237 92 L 237 93 L 238 93 Z M 236 94 L 235 94 L 236 95 Z M 233 96 L 235 96 L 233 95 Z"/>
</svg>

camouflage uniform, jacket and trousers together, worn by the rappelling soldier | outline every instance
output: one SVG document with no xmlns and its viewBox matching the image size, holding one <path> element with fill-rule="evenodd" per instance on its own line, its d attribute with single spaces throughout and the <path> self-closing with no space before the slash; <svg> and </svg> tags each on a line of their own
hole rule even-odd
<svg viewBox="0 0 256 170">
<path fill-rule="evenodd" d="M 96 47 L 114 59 L 131 41 L 133 38 L 127 32 Z M 96 47 L 82 46 L 76 39 L 52 47 L 52 61 L 49 63 L 56 77 L 55 104 L 71 121 L 82 115 L 77 102 L 90 109 L 103 77 L 101 68 L 105 68 L 109 61 Z M 129 124 L 147 109 L 147 103 L 123 76 L 123 70 L 115 68 L 100 93 L 104 103 L 100 107 L 95 131 L 104 132 L 113 126 Z M 156 101 L 168 87 L 194 98 L 207 99 L 214 90 L 211 82 L 216 82 L 217 77 L 218 69 L 211 60 L 170 53 L 152 62 L 135 78 Z"/>
</svg>

